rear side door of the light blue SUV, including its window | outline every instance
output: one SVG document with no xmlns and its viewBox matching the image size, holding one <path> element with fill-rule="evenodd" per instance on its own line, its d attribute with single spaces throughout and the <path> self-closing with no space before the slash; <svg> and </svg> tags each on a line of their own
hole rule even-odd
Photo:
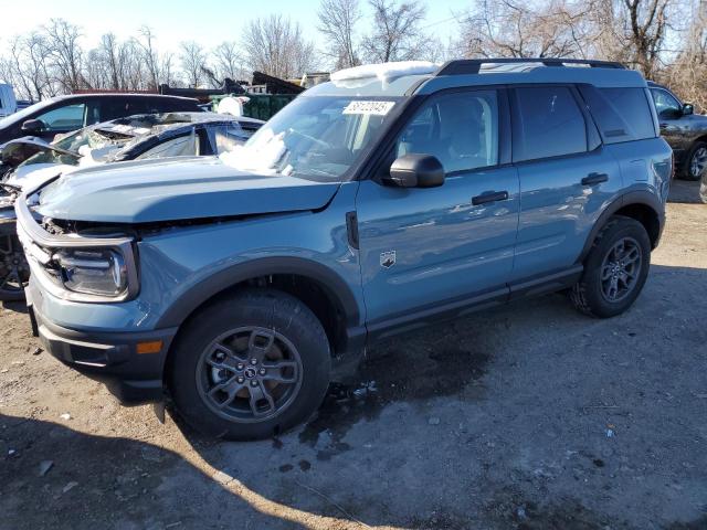
<svg viewBox="0 0 707 530">
<path fill-rule="evenodd" d="M 520 216 L 511 282 L 576 264 L 603 206 L 622 188 L 585 104 L 570 85 L 510 91 Z"/>
</svg>

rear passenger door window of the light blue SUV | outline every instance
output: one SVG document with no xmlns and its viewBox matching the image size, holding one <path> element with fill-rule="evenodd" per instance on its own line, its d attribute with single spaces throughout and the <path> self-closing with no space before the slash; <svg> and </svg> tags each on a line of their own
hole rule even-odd
<svg viewBox="0 0 707 530">
<path fill-rule="evenodd" d="M 587 123 L 569 87 L 519 87 L 513 92 L 514 161 L 587 151 Z"/>
</svg>

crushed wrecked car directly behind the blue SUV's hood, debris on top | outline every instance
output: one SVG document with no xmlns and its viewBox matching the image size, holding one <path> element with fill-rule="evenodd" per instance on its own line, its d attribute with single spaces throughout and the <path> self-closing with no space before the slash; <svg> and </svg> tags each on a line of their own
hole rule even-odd
<svg viewBox="0 0 707 530">
<path fill-rule="evenodd" d="M 86 127 L 52 144 L 20 138 L 0 155 L 0 300 L 24 296 L 29 265 L 17 241 L 14 199 L 56 174 L 126 160 L 219 155 L 246 141 L 263 121 L 214 113 L 138 115 Z"/>
</svg>

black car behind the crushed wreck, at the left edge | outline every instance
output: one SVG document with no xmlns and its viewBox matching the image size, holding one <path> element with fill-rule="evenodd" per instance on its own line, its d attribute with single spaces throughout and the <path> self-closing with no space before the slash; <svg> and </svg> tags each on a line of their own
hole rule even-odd
<svg viewBox="0 0 707 530">
<path fill-rule="evenodd" d="M 35 103 L 0 119 L 0 144 L 22 136 L 52 140 L 88 125 L 135 114 L 199 113 L 199 102 L 156 94 L 75 94 Z"/>
</svg>

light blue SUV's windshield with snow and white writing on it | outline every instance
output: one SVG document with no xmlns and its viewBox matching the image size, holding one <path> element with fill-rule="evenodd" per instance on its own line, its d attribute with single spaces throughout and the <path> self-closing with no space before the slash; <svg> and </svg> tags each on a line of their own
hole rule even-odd
<svg viewBox="0 0 707 530">
<path fill-rule="evenodd" d="M 220 158 L 242 171 L 340 180 L 380 138 L 400 100 L 300 96 Z"/>
</svg>

